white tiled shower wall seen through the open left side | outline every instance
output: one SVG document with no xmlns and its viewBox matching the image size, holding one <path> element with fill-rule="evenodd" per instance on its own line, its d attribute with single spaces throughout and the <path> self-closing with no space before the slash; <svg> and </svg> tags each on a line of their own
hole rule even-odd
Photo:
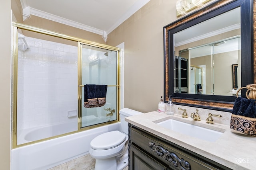
<svg viewBox="0 0 256 170">
<path fill-rule="evenodd" d="M 24 129 L 77 119 L 67 116 L 78 108 L 77 47 L 31 37 L 26 41 L 30 49 L 18 55 L 18 102 L 24 106 L 18 119 Z"/>
</svg>

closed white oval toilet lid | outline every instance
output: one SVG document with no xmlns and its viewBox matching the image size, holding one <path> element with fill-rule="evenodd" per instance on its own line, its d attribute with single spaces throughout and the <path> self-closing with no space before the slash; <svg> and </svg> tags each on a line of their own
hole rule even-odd
<svg viewBox="0 0 256 170">
<path fill-rule="evenodd" d="M 124 135 L 120 131 L 111 131 L 95 137 L 91 141 L 90 145 L 92 149 L 98 149 L 98 150 L 110 149 L 112 147 L 116 147 L 117 145 L 120 145 L 125 140 L 126 140 L 126 135 Z"/>
</svg>

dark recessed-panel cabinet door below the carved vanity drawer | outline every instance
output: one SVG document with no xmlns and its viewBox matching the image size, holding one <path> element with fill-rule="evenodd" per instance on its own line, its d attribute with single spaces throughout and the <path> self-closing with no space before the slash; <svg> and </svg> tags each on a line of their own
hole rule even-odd
<svg viewBox="0 0 256 170">
<path fill-rule="evenodd" d="M 130 170 L 170 170 L 136 146 L 130 147 Z"/>
</svg>

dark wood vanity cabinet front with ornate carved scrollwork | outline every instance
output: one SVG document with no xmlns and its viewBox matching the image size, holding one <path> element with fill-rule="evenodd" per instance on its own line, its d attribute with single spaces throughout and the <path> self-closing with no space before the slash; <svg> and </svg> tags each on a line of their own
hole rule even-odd
<svg viewBox="0 0 256 170">
<path fill-rule="evenodd" d="M 134 125 L 129 125 L 129 131 L 130 170 L 230 169 Z"/>
</svg>

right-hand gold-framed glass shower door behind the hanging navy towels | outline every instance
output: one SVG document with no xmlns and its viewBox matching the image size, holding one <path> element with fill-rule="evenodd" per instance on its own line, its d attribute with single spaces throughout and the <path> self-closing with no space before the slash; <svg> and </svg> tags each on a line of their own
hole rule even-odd
<svg viewBox="0 0 256 170">
<path fill-rule="evenodd" d="M 81 86 L 86 84 L 107 85 L 106 104 L 100 107 L 84 107 L 84 87 L 81 88 L 80 125 L 88 127 L 117 120 L 118 52 L 90 45 L 81 45 Z M 98 90 L 97 90 L 98 92 Z M 88 92 L 89 93 L 89 92 Z M 95 96 L 97 98 L 97 96 Z M 88 98 L 89 99 L 89 98 Z"/>
</svg>

